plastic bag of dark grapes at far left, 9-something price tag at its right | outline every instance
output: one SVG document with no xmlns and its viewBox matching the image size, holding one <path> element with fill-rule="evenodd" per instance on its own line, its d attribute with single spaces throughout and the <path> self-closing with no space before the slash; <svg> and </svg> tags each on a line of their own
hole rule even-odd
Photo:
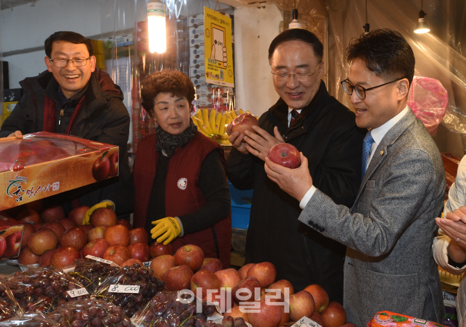
<svg viewBox="0 0 466 327">
<path fill-rule="evenodd" d="M 90 298 L 83 285 L 53 266 L 17 271 L 1 281 L 10 287 L 19 306 L 26 312 L 37 310 L 47 314 L 57 306 L 75 301 L 80 296 Z M 82 292 L 82 289 L 86 292 Z"/>
</svg>

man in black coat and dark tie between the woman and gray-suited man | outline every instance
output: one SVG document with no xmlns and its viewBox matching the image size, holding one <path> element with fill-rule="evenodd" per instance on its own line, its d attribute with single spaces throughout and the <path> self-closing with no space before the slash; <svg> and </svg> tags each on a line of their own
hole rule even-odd
<svg viewBox="0 0 466 327">
<path fill-rule="evenodd" d="M 270 181 L 264 160 L 271 146 L 293 144 L 307 158 L 314 185 L 336 203 L 351 206 L 361 181 L 364 134 L 353 112 L 331 97 L 321 81 L 323 45 L 309 31 L 284 31 L 272 41 L 268 59 L 280 99 L 259 118 L 255 133 L 231 132 L 234 149 L 227 176 L 239 190 L 254 189 L 246 240 L 246 263 L 273 262 L 277 280 L 295 292 L 319 284 L 330 301 L 343 300 L 345 246 L 301 224 L 299 202 Z M 275 135 L 272 136 L 272 135 Z"/>
</svg>

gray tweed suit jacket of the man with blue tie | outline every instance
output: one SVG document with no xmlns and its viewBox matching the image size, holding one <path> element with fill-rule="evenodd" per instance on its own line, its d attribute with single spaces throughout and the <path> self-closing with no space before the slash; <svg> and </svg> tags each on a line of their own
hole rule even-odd
<svg viewBox="0 0 466 327">
<path fill-rule="evenodd" d="M 316 190 L 299 220 L 348 246 L 348 321 L 366 326 L 378 311 L 389 310 L 442 323 L 431 245 L 444 190 L 440 153 L 411 110 L 378 144 L 351 209 Z"/>
</svg>

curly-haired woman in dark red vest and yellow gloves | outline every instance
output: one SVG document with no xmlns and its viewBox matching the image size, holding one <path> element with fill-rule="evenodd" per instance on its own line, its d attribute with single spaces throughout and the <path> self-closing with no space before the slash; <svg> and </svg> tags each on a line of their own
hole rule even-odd
<svg viewBox="0 0 466 327">
<path fill-rule="evenodd" d="M 230 267 L 232 222 L 223 149 L 191 120 L 194 85 L 177 70 L 144 78 L 142 105 L 156 133 L 138 143 L 133 227 L 175 251 L 195 244 Z M 118 204 L 117 204 L 118 206 Z"/>
</svg>

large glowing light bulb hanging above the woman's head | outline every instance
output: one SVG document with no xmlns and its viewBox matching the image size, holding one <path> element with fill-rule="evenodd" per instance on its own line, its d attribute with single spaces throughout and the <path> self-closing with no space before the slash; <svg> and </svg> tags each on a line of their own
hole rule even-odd
<svg viewBox="0 0 466 327">
<path fill-rule="evenodd" d="M 164 53 L 167 51 L 165 5 L 161 1 L 153 0 L 147 3 L 147 32 L 150 53 Z"/>
</svg>

